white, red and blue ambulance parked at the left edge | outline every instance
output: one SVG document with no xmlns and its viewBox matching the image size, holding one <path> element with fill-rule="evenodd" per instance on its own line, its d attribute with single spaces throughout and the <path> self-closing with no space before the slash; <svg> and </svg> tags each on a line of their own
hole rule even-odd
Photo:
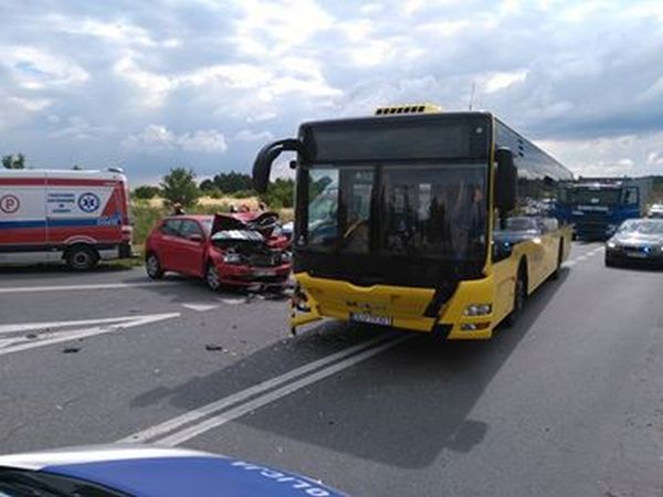
<svg viewBox="0 0 663 497">
<path fill-rule="evenodd" d="M 65 262 L 76 271 L 131 255 L 122 169 L 0 169 L 0 264 Z"/>
</svg>

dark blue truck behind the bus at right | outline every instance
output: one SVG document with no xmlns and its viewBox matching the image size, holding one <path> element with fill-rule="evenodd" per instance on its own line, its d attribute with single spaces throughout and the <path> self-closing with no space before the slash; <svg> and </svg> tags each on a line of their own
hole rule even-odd
<svg viewBox="0 0 663 497">
<path fill-rule="evenodd" d="M 608 240 L 627 219 L 644 216 L 651 178 L 580 179 L 561 184 L 555 216 L 579 240 Z"/>
</svg>

